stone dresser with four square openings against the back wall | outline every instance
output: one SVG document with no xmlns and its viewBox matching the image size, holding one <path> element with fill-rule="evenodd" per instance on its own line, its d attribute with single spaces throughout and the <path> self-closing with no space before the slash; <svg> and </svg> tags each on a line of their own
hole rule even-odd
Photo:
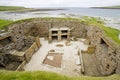
<svg viewBox="0 0 120 80">
<path fill-rule="evenodd" d="M 49 30 L 49 41 L 52 40 L 64 40 L 70 38 L 70 29 L 69 28 L 51 28 Z"/>
</svg>

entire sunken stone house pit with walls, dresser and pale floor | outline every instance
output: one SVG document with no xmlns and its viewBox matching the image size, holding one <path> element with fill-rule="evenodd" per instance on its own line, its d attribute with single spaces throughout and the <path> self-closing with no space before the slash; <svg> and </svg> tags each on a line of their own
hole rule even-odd
<svg viewBox="0 0 120 80">
<path fill-rule="evenodd" d="M 59 46 L 61 49 L 63 47 L 67 50 L 66 48 L 69 49 L 74 46 L 74 43 L 71 44 L 71 42 L 78 42 L 76 44 L 79 46 L 77 54 L 75 54 L 76 51 L 72 51 L 71 54 L 73 55 L 64 54 L 65 52 L 62 54 L 54 53 L 55 48 L 53 48 L 53 53 L 43 54 L 39 52 L 41 49 L 46 50 L 44 49 L 44 42 L 42 43 L 40 40 L 41 38 L 44 38 L 48 43 L 45 48 L 48 48 L 50 44 L 65 41 L 62 44 L 63 46 Z M 87 45 L 88 48 L 84 50 L 82 45 Z M 36 59 L 38 61 L 32 63 L 37 54 L 43 57 L 40 59 L 38 57 Z M 63 61 L 64 55 L 66 55 L 68 62 Z M 71 59 L 75 55 L 78 56 L 76 57 L 77 61 Z M 58 58 L 54 58 L 55 56 Z M 29 64 L 48 64 L 50 66 L 40 67 L 36 70 L 58 71 L 58 73 L 74 76 L 82 74 L 105 76 L 120 73 L 119 56 L 120 48 L 116 47 L 114 41 L 104 35 L 104 31 L 77 20 L 52 18 L 49 20 L 42 18 L 23 20 L 9 25 L 8 31 L 0 34 L 0 68 L 5 70 L 34 70 L 38 66 L 33 66 L 30 69 Z M 72 60 L 73 63 L 69 63 L 69 60 Z M 67 64 L 68 68 L 63 65 L 64 63 Z M 74 65 L 70 68 L 72 64 Z M 66 68 L 66 72 L 62 71 L 64 68 Z"/>
</svg>

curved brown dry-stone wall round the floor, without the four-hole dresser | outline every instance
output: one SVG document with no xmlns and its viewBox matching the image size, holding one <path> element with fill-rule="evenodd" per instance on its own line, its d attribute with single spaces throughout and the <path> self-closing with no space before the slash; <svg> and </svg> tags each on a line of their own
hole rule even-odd
<svg viewBox="0 0 120 80">
<path fill-rule="evenodd" d="M 11 43 L 1 49 L 2 53 L 9 53 L 9 50 L 12 49 L 24 51 L 24 61 L 29 62 L 32 55 L 41 46 L 39 39 L 35 40 L 35 37 L 48 37 L 49 29 L 55 27 L 68 27 L 71 29 L 71 37 L 87 38 L 87 44 L 96 46 L 94 56 L 101 75 L 120 73 L 120 47 L 105 36 L 100 28 L 87 27 L 86 24 L 74 20 L 36 18 L 14 23 L 8 27 L 8 31 L 11 33 Z M 4 57 L 4 55 L 1 56 Z M 1 65 L 4 66 L 2 63 Z M 21 70 L 22 66 L 23 64 L 19 66 L 18 70 Z"/>
</svg>

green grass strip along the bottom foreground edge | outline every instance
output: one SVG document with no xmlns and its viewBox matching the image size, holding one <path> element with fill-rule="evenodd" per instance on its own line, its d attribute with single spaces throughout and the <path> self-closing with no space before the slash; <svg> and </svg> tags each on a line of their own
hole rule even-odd
<svg viewBox="0 0 120 80">
<path fill-rule="evenodd" d="M 0 71 L 0 80 L 120 80 L 120 75 L 115 74 L 108 77 L 89 77 L 89 76 L 70 77 L 45 71 L 33 71 L 33 72 Z"/>
</svg>

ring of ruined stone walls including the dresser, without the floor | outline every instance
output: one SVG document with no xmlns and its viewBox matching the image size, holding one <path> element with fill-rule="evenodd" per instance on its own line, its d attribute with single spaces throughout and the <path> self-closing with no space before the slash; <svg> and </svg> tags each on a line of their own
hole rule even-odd
<svg viewBox="0 0 120 80">
<path fill-rule="evenodd" d="M 9 25 L 6 32 L 1 32 L 0 68 L 17 70 L 22 62 L 29 62 L 33 53 L 40 48 L 36 37 L 45 37 L 49 41 L 53 39 L 60 41 L 62 38 L 69 39 L 70 37 L 85 38 L 86 44 L 94 46 L 95 49 L 93 55 L 100 74 L 97 76 L 120 73 L 120 47 L 105 36 L 104 31 L 76 20 L 52 18 L 23 20 Z M 37 47 L 31 47 L 34 42 Z M 29 48 L 34 49 L 32 53 L 28 51 Z"/>
</svg>

